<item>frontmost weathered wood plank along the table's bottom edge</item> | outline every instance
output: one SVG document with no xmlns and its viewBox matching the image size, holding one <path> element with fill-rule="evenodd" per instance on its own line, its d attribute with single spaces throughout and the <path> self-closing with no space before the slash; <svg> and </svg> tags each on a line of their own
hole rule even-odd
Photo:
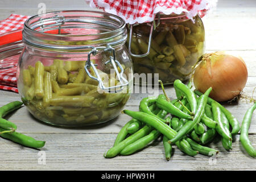
<svg viewBox="0 0 256 182">
<path fill-rule="evenodd" d="M 38 150 L 21 147 L 0 138 L 1 170 L 254 170 L 256 168 L 256 161 L 245 153 L 238 140 L 233 143 L 233 150 L 230 152 L 225 151 L 218 140 L 210 144 L 210 147 L 220 151 L 217 158 L 200 154 L 195 157 L 187 156 L 174 147 L 174 155 L 167 162 L 164 158 L 162 142 L 159 142 L 160 138 L 136 154 L 105 159 L 103 154 L 113 146 L 115 134 L 30 134 L 30 136 L 47 140 L 46 146 L 41 150 L 46 152 L 46 165 L 38 164 Z M 250 139 L 256 140 L 256 136 L 250 135 Z M 256 147 L 255 143 L 253 145 Z"/>
</svg>

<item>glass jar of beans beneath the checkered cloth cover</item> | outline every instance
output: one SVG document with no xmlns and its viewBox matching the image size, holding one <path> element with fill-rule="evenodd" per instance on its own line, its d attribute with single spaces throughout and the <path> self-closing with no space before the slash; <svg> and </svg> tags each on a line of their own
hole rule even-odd
<svg viewBox="0 0 256 182">
<path fill-rule="evenodd" d="M 152 73 L 152 80 L 158 74 L 159 80 L 164 84 L 172 84 L 176 79 L 187 80 L 191 77 L 192 66 L 204 53 L 203 22 L 198 15 L 194 18 L 195 22 L 192 22 L 184 14 L 160 14 L 155 22 L 158 20 L 160 24 L 155 30 L 152 30 L 152 23 L 133 26 L 129 51 L 133 59 L 134 73 Z M 148 47 L 150 36 L 151 44 Z M 142 56 L 148 48 L 148 55 Z M 147 82 L 139 80 L 135 84 L 143 85 Z"/>
</svg>

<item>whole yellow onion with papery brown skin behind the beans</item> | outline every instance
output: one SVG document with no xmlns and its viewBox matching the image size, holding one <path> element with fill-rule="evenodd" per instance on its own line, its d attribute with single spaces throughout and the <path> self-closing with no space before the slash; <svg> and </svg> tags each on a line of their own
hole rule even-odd
<svg viewBox="0 0 256 182">
<path fill-rule="evenodd" d="M 210 86 L 209 97 L 216 101 L 230 101 L 238 96 L 247 81 L 245 61 L 225 52 L 206 53 L 193 75 L 195 88 L 205 92 Z"/>
</svg>

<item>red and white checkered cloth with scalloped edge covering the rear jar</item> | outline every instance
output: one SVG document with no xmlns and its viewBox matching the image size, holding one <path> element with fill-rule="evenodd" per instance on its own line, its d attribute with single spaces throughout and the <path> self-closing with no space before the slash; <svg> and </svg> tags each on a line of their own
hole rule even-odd
<svg viewBox="0 0 256 182">
<path fill-rule="evenodd" d="M 126 23 L 152 22 L 155 14 L 185 13 L 189 19 L 199 14 L 201 17 L 216 6 L 217 0 L 85 0 L 90 7 L 104 9 L 118 15 Z"/>
</svg>

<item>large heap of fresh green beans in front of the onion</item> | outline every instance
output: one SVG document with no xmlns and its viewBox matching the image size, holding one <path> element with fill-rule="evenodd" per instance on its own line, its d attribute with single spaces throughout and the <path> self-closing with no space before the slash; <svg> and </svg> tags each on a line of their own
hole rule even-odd
<svg viewBox="0 0 256 182">
<path fill-rule="evenodd" d="M 163 135 L 167 160 L 171 158 L 173 144 L 189 156 L 218 154 L 217 150 L 205 146 L 217 135 L 221 138 L 222 146 L 228 151 L 232 150 L 232 137 L 240 131 L 240 123 L 224 106 L 208 97 L 212 88 L 200 93 L 192 90 L 191 82 L 185 85 L 180 80 L 175 80 L 174 88 L 175 100 L 170 101 L 162 85 L 164 94 L 143 98 L 139 111 L 123 110 L 133 119 L 123 126 L 114 146 L 105 152 L 104 157 L 133 154 L 160 135 Z M 246 136 L 243 138 L 248 143 Z"/>
</svg>

